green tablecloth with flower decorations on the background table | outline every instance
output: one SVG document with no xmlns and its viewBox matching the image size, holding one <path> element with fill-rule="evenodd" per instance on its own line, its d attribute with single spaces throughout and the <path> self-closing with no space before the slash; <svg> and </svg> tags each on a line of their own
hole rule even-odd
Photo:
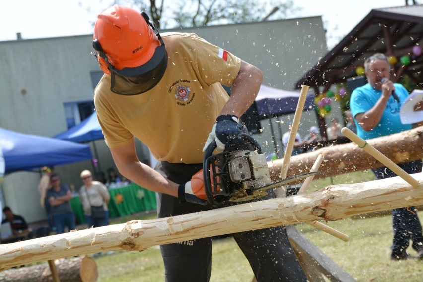
<svg viewBox="0 0 423 282">
<path fill-rule="evenodd" d="M 109 193 L 110 202 L 108 207 L 110 218 L 155 210 L 157 207 L 155 192 L 142 188 L 137 184 L 109 189 Z M 79 196 L 73 197 L 70 200 L 70 205 L 76 216 L 77 224 L 86 223 Z"/>
</svg>

